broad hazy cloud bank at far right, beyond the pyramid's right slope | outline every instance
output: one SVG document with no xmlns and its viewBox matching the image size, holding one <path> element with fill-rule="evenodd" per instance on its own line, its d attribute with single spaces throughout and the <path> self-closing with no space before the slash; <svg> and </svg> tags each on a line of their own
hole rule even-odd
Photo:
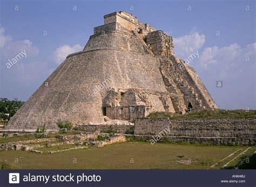
<svg viewBox="0 0 256 187">
<path fill-rule="evenodd" d="M 255 42 L 207 47 L 193 64 L 220 108 L 255 108 L 255 50 Z M 218 80 L 223 88 L 215 87 Z"/>
</svg>

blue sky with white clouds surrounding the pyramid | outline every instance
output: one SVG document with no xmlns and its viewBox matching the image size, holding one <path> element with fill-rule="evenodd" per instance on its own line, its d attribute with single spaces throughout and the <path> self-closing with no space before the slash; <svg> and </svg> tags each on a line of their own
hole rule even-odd
<svg viewBox="0 0 256 187">
<path fill-rule="evenodd" d="M 220 108 L 256 109 L 255 1 L 1 0 L 0 5 L 0 97 L 26 101 L 67 54 L 83 49 L 104 15 L 125 10 L 170 34 L 179 58 L 198 52 L 189 65 Z M 7 68 L 8 59 L 23 50 L 26 58 Z"/>
</svg>

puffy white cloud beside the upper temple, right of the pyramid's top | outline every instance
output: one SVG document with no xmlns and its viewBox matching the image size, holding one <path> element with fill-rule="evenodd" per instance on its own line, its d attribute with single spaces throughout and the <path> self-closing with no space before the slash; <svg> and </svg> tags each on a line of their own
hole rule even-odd
<svg viewBox="0 0 256 187">
<path fill-rule="evenodd" d="M 194 32 L 179 38 L 173 38 L 175 56 L 185 59 L 199 50 L 205 43 L 204 34 Z"/>
</svg>

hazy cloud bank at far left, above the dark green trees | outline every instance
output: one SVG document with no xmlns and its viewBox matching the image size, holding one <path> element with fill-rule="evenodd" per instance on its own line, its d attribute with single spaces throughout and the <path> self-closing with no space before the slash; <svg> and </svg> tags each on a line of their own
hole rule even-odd
<svg viewBox="0 0 256 187">
<path fill-rule="evenodd" d="M 26 56 L 7 68 L 8 59 L 15 58 L 24 50 Z M 5 33 L 3 27 L 0 27 L 1 96 L 26 100 L 48 77 L 52 70 L 48 67 L 49 64 L 38 58 L 38 53 L 39 49 L 30 40 L 15 40 Z"/>
</svg>

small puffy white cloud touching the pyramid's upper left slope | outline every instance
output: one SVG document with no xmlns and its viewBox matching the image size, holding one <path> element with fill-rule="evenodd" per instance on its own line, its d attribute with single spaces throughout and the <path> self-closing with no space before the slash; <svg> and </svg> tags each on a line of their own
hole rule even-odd
<svg viewBox="0 0 256 187">
<path fill-rule="evenodd" d="M 63 60 L 65 60 L 66 56 L 68 56 L 71 53 L 75 53 L 78 51 L 82 51 L 83 47 L 79 44 L 76 44 L 74 46 L 69 45 L 62 45 L 58 47 L 53 54 L 55 55 L 56 63 L 60 64 Z"/>
</svg>

